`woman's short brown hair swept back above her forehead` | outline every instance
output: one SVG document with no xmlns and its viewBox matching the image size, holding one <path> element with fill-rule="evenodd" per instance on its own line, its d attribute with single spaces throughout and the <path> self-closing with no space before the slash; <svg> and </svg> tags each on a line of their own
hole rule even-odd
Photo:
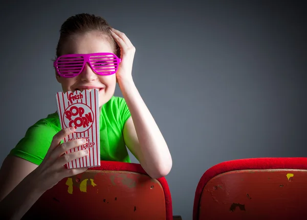
<svg viewBox="0 0 307 220">
<path fill-rule="evenodd" d="M 69 17 L 64 21 L 60 29 L 60 39 L 56 47 L 56 57 L 62 55 L 63 45 L 72 35 L 91 31 L 101 32 L 105 35 L 106 39 L 112 44 L 114 53 L 120 57 L 119 46 L 112 37 L 109 29 L 111 29 L 111 26 L 100 16 L 82 13 Z"/>
</svg>

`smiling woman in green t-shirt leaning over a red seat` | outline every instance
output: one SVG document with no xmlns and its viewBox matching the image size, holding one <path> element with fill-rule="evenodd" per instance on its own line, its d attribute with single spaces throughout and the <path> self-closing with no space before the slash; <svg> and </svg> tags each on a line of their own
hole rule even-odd
<svg viewBox="0 0 307 220">
<path fill-rule="evenodd" d="M 100 106 L 101 160 L 130 162 L 127 148 L 151 178 L 166 176 L 172 159 L 167 144 L 144 104 L 131 75 L 135 47 L 101 17 L 78 14 L 68 18 L 60 30 L 56 57 L 68 54 L 113 53 L 121 58 L 116 74 L 103 76 L 85 64 L 74 77 L 55 72 L 63 92 L 98 89 Z M 123 98 L 115 97 L 118 83 Z M 61 129 L 57 112 L 37 121 L 4 160 L 0 169 L 0 211 L 4 217 L 20 219 L 43 192 L 61 179 L 86 168 L 64 168 L 64 164 L 89 154 L 87 150 L 65 155 L 84 144 L 81 139 L 60 143 L 74 128 Z"/>
</svg>

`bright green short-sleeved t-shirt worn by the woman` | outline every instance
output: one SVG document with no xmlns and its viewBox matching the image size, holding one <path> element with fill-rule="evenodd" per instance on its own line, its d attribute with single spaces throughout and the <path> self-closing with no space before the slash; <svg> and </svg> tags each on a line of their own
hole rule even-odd
<svg viewBox="0 0 307 220">
<path fill-rule="evenodd" d="M 123 138 L 123 128 L 130 116 L 122 97 L 113 96 L 102 106 L 99 117 L 101 160 L 131 162 Z M 58 113 L 50 114 L 27 130 L 10 155 L 39 165 L 47 154 L 53 136 L 60 130 Z"/>
</svg>

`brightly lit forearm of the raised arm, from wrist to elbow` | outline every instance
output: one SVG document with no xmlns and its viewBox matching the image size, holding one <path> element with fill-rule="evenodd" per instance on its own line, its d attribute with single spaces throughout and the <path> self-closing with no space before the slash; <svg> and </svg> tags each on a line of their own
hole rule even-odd
<svg viewBox="0 0 307 220">
<path fill-rule="evenodd" d="M 163 135 L 145 105 L 133 80 L 118 81 L 133 119 L 140 143 L 141 165 L 150 176 L 165 176 L 169 173 L 172 160 Z"/>
</svg>

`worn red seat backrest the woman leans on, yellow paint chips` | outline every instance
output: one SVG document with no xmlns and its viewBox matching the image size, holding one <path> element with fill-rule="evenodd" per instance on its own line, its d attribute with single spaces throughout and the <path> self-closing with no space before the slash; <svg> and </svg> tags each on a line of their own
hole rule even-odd
<svg viewBox="0 0 307 220">
<path fill-rule="evenodd" d="M 47 190 L 23 219 L 172 219 L 165 178 L 136 163 L 101 161 Z"/>
</svg>

